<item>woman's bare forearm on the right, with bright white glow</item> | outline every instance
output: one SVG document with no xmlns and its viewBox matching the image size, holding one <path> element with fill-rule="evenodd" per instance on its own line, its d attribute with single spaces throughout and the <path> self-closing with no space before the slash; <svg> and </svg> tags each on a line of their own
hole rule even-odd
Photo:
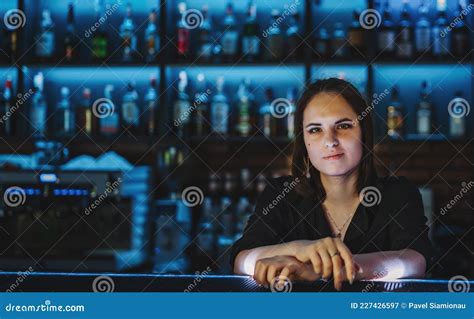
<svg viewBox="0 0 474 319">
<path fill-rule="evenodd" d="M 360 267 L 356 279 L 390 280 L 425 277 L 425 257 L 413 249 L 354 255 Z"/>
</svg>

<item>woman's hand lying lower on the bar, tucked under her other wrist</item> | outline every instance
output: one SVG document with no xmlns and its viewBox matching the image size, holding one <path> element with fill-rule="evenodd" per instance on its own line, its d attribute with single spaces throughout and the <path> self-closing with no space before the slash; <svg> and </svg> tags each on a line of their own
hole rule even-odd
<svg viewBox="0 0 474 319">
<path fill-rule="evenodd" d="M 285 278 L 294 279 L 302 267 L 303 263 L 293 256 L 262 258 L 255 263 L 253 278 L 260 285 L 272 285 L 275 284 L 277 277 L 280 278 L 280 282 Z"/>
</svg>

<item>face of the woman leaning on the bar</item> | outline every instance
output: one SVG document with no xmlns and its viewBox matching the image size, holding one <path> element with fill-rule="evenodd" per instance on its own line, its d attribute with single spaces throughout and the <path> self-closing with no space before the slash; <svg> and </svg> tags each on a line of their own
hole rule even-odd
<svg viewBox="0 0 474 319">
<path fill-rule="evenodd" d="M 346 175 L 359 165 L 362 131 L 357 123 L 357 114 L 341 95 L 319 93 L 309 101 L 303 113 L 304 142 L 321 174 Z"/>
</svg>

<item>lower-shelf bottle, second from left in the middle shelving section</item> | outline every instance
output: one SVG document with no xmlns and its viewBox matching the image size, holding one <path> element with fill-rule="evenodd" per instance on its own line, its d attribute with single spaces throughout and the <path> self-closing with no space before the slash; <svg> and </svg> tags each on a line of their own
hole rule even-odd
<svg viewBox="0 0 474 319">
<path fill-rule="evenodd" d="M 194 103 L 196 109 L 193 112 L 193 133 L 196 136 L 205 136 L 208 134 L 209 127 L 209 96 L 206 92 L 206 78 L 204 73 L 197 75 L 196 94 L 194 95 Z"/>
</svg>

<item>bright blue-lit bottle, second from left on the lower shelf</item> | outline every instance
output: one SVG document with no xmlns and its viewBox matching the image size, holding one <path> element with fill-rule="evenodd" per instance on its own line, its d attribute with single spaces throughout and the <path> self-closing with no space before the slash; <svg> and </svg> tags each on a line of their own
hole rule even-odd
<svg viewBox="0 0 474 319">
<path fill-rule="evenodd" d="M 35 93 L 33 95 L 30 110 L 31 133 L 35 137 L 44 137 L 46 135 L 46 116 L 48 113 L 48 107 L 43 95 L 43 84 L 43 73 L 39 72 L 33 77 Z"/>
</svg>

